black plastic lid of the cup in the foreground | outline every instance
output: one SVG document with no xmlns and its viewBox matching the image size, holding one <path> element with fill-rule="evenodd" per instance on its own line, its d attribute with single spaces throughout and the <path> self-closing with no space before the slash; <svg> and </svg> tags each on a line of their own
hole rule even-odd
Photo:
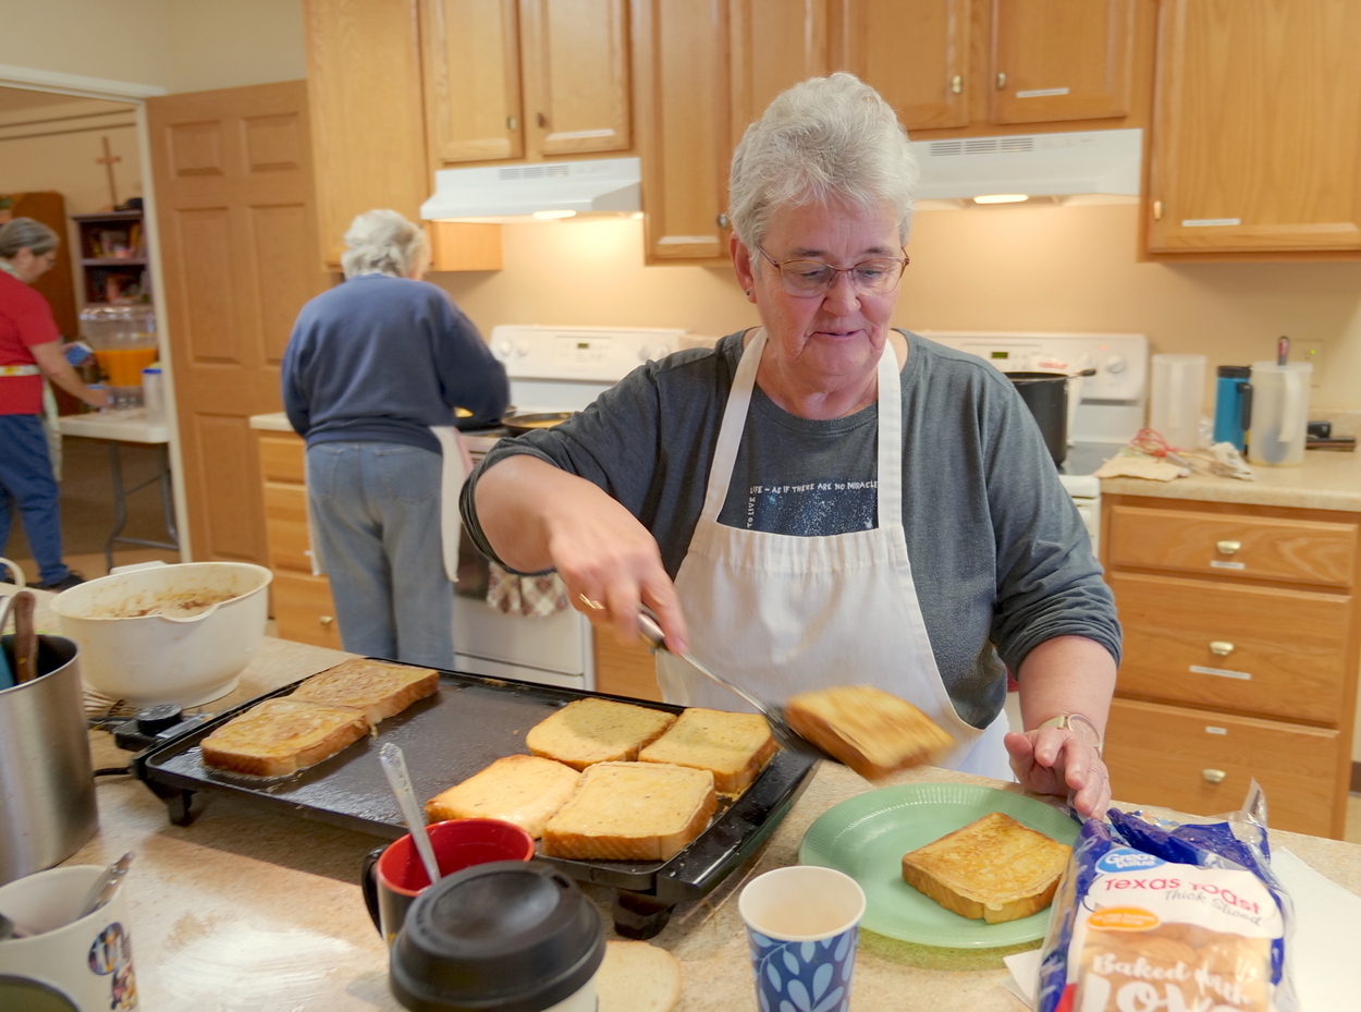
<svg viewBox="0 0 1361 1012">
<path fill-rule="evenodd" d="M 570 879 L 538 861 L 495 861 L 416 898 L 388 982 L 412 1012 L 542 1012 L 603 959 L 600 913 Z"/>
</svg>

